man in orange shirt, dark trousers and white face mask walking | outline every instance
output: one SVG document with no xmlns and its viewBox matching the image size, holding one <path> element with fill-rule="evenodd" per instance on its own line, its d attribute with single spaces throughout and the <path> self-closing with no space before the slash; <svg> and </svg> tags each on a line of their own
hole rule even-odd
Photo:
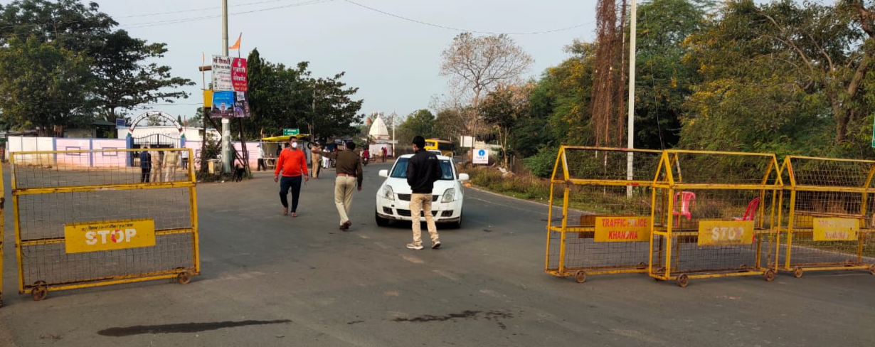
<svg viewBox="0 0 875 347">
<path fill-rule="evenodd" d="M 297 197 L 301 195 L 301 177 L 309 181 L 307 176 L 307 157 L 304 151 L 297 148 L 297 138 L 290 140 L 291 147 L 286 147 L 276 160 L 274 182 L 279 180 L 279 172 L 283 171 L 283 180 L 279 183 L 279 201 L 283 203 L 283 216 L 289 214 L 289 200 L 286 195 L 291 188 L 291 217 L 297 217 Z"/>
</svg>

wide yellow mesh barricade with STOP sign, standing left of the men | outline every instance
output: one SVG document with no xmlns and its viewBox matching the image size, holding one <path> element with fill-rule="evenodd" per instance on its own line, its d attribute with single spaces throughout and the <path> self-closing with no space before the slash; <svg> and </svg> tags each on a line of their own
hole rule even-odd
<svg viewBox="0 0 875 347">
<path fill-rule="evenodd" d="M 18 292 L 200 274 L 191 149 L 11 153 Z"/>
</svg>

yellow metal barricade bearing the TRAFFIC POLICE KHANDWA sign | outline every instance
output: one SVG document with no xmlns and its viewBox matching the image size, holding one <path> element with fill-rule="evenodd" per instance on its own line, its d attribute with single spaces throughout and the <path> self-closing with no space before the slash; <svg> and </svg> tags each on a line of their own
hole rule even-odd
<svg viewBox="0 0 875 347">
<path fill-rule="evenodd" d="M 582 283 L 588 274 L 647 272 L 651 187 L 661 154 L 559 149 L 550 180 L 546 273 Z"/>
</svg>

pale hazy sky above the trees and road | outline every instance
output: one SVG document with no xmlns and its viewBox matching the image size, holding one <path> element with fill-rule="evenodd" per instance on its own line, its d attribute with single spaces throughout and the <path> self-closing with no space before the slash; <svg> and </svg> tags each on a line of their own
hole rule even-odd
<svg viewBox="0 0 875 347">
<path fill-rule="evenodd" d="M 201 100 L 201 52 L 207 64 L 211 54 L 221 54 L 221 0 L 96 1 L 133 37 L 166 43 L 169 52 L 160 64 L 197 82 L 186 88 L 192 96 L 178 101 L 189 105 L 149 109 L 193 115 L 198 106 L 191 104 Z M 351 1 L 374 10 L 345 0 L 229 0 L 228 45 L 242 32 L 243 57 L 257 47 L 271 62 L 293 66 L 310 61 L 315 76 L 346 72 L 347 85 L 360 88 L 356 97 L 365 101 L 362 113 L 395 109 L 403 116 L 428 108 L 432 95 L 447 92 L 446 79 L 437 74 L 440 53 L 460 31 L 428 24 L 507 33 L 578 26 L 512 35 L 535 59 L 530 76 L 561 62 L 568 56 L 564 45 L 574 38 L 591 40 L 595 30 L 595 0 Z"/>
</svg>

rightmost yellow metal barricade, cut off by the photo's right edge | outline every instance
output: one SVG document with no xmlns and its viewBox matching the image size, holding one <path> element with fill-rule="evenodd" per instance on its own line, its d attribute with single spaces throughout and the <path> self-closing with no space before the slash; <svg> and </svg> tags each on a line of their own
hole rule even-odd
<svg viewBox="0 0 875 347">
<path fill-rule="evenodd" d="M 875 274 L 875 161 L 787 156 L 775 269 Z M 788 193 L 788 194 L 787 194 Z M 784 222 L 786 221 L 786 222 Z"/>
</svg>

